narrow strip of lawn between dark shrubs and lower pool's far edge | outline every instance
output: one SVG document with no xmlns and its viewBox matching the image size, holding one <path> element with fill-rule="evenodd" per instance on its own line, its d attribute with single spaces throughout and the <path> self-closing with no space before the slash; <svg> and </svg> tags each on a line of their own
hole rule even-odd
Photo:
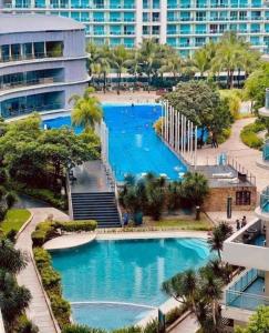
<svg viewBox="0 0 269 333">
<path fill-rule="evenodd" d="M 159 221 L 145 221 L 147 226 L 158 226 L 158 228 L 175 228 L 179 230 L 195 230 L 195 231 L 209 231 L 213 229 L 213 223 L 201 214 L 201 220 L 196 221 L 193 219 L 183 218 L 167 218 Z"/>
</svg>

